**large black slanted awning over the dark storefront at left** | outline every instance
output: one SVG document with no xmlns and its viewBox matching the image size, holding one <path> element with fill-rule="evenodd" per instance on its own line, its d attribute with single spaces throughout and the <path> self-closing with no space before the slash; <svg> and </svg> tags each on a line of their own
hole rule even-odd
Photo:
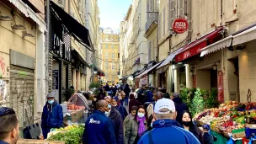
<svg viewBox="0 0 256 144">
<path fill-rule="evenodd" d="M 61 20 L 63 26 L 68 30 L 77 41 L 79 41 L 85 47 L 90 47 L 88 50 L 92 51 L 91 39 L 89 31 L 82 24 L 78 23 L 76 19 L 73 19 L 71 15 L 66 13 L 61 7 L 57 6 L 56 3 L 50 2 L 51 8 L 57 14 Z"/>
</svg>

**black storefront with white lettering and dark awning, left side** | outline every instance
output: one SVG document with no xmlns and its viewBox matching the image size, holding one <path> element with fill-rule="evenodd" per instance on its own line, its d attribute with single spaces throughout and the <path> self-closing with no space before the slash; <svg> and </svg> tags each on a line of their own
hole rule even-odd
<svg viewBox="0 0 256 144">
<path fill-rule="evenodd" d="M 59 102 L 67 101 L 65 91 L 71 86 L 75 91 L 86 88 L 85 58 L 72 47 L 72 39 L 90 48 L 88 29 L 79 24 L 62 8 L 50 3 L 50 55 L 49 73 L 52 77 L 49 91 L 56 95 Z M 85 54 L 84 54 L 85 55 Z"/>
</svg>

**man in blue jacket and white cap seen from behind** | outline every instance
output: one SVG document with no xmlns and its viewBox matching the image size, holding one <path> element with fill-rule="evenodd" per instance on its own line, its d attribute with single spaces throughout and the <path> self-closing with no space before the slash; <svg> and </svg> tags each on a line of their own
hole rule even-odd
<svg viewBox="0 0 256 144">
<path fill-rule="evenodd" d="M 154 107 L 152 131 L 141 136 L 138 144 L 200 144 L 189 131 L 185 131 L 176 119 L 175 104 L 171 99 L 159 99 Z"/>
</svg>

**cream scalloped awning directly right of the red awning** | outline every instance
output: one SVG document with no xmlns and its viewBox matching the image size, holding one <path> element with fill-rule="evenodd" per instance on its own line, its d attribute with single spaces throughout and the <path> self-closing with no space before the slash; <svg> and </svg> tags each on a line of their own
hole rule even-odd
<svg viewBox="0 0 256 144">
<path fill-rule="evenodd" d="M 229 47 L 230 45 L 232 45 L 232 35 L 228 36 L 225 39 L 219 40 L 216 43 L 208 45 L 203 49 L 201 49 L 200 56 L 205 56 L 205 55 L 208 55 L 212 52 L 219 51 L 221 49 Z"/>
</svg>

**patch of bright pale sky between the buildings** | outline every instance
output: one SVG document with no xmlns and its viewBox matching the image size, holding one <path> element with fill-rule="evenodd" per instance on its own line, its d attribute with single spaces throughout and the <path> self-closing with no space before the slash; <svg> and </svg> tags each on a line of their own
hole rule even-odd
<svg viewBox="0 0 256 144">
<path fill-rule="evenodd" d="M 100 27 L 119 29 L 132 0 L 98 0 Z"/>
</svg>

